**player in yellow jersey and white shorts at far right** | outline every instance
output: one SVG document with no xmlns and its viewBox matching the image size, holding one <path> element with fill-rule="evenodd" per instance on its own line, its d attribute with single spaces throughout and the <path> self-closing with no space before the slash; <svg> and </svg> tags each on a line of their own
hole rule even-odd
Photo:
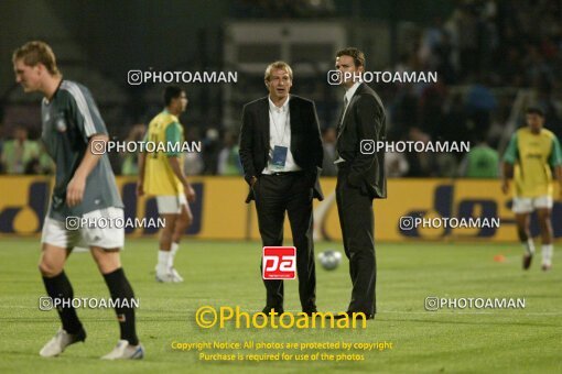
<svg viewBox="0 0 562 374">
<path fill-rule="evenodd" d="M 527 127 L 517 130 L 504 155 L 501 189 L 509 190 L 509 179 L 515 169 L 514 212 L 517 232 L 523 245 L 523 270 L 531 266 L 534 243 L 530 235 L 529 217 L 537 210 L 542 239 L 542 270 L 552 266 L 553 179 L 560 183 L 562 196 L 562 151 L 556 136 L 543 129 L 544 113 L 539 108 L 526 112 Z M 515 166 L 515 167 L 514 167 Z"/>
</svg>

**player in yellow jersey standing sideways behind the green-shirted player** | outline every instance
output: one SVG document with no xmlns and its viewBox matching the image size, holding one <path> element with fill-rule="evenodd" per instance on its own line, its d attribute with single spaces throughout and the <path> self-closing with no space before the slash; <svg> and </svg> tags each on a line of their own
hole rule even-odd
<svg viewBox="0 0 562 374">
<path fill-rule="evenodd" d="M 159 151 L 165 148 L 165 152 L 139 155 L 137 194 L 155 196 L 158 212 L 165 220 L 160 235 L 156 280 L 169 283 L 183 282 L 174 268 L 174 257 L 182 234 L 193 220 L 187 201 L 195 200 L 195 191 L 183 173 L 181 147 L 174 150 L 173 146 L 184 141 L 179 117 L 187 107 L 185 91 L 177 86 L 166 87 L 164 105 L 165 109 L 150 122 L 144 141 L 154 143 Z"/>
</svg>

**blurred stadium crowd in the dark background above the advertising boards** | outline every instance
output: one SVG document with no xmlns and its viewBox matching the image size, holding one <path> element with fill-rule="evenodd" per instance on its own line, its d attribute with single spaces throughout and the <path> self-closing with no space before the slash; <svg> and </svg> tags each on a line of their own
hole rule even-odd
<svg viewBox="0 0 562 374">
<path fill-rule="evenodd" d="M 511 108 L 520 90 L 532 92 L 533 105 L 545 113 L 545 127 L 562 139 L 561 16 L 562 4 L 556 0 L 458 1 L 447 19 L 435 19 L 432 24 L 419 28 L 398 63 L 387 69 L 437 72 L 439 81 L 372 85 L 388 110 L 388 140 L 469 141 L 471 153 L 476 155 L 389 153 L 388 175 L 497 177 L 496 166 L 504 151 L 500 140 L 507 133 Z M 317 81 L 324 82 L 325 73 L 320 74 Z M 263 91 L 260 81 L 253 89 Z M 318 95 L 317 85 L 310 90 Z M 331 176 L 336 174 L 332 161 L 337 113 L 323 108 L 335 99 L 326 99 L 327 105 L 315 100 L 324 140 L 323 174 Z M 522 109 L 517 127 L 522 124 Z M 147 124 L 134 124 L 123 138 L 139 141 L 145 128 Z M 185 173 L 240 175 L 238 130 L 186 125 L 185 139 L 201 142 L 203 150 L 186 154 Z M 3 123 L 0 136 L 0 173 L 53 173 L 39 133 L 29 133 L 18 123 Z M 116 174 L 138 173 L 136 154 L 111 155 L 111 162 Z M 472 162 L 484 166 L 471 167 Z M 495 165 L 496 173 L 490 172 L 490 165 Z"/>
</svg>

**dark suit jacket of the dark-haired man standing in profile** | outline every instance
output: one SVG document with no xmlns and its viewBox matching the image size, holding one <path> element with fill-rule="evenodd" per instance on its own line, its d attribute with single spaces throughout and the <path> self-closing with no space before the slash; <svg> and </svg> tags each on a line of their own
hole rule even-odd
<svg viewBox="0 0 562 374">
<path fill-rule="evenodd" d="M 382 101 L 369 86 L 360 84 L 347 106 L 337 134 L 336 148 L 345 160 L 342 167 L 348 169 L 347 182 L 371 198 L 387 197 L 385 152 L 361 153 L 361 142 L 386 141 L 386 136 Z"/>
</svg>

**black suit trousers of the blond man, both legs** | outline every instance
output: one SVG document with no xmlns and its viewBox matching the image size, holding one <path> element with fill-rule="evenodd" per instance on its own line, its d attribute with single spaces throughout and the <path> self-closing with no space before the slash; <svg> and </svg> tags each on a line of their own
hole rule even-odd
<svg viewBox="0 0 562 374">
<path fill-rule="evenodd" d="M 258 224 L 263 246 L 283 245 L 283 222 L 289 216 L 296 248 L 299 296 L 303 311 L 316 310 L 313 189 L 304 173 L 262 175 L 253 185 Z M 260 265 L 260 270 L 262 265 Z M 263 279 L 267 307 L 283 310 L 283 280 Z"/>
</svg>

